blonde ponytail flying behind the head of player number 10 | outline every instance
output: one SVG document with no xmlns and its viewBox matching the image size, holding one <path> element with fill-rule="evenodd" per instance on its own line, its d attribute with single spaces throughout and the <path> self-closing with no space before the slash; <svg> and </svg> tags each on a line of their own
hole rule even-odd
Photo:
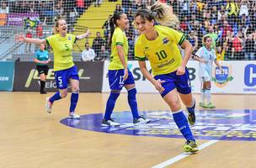
<svg viewBox="0 0 256 168">
<path fill-rule="evenodd" d="M 179 18 L 172 12 L 171 7 L 165 3 L 154 3 L 149 8 L 149 14 L 152 15 L 158 24 L 176 28 L 179 25 Z"/>
</svg>

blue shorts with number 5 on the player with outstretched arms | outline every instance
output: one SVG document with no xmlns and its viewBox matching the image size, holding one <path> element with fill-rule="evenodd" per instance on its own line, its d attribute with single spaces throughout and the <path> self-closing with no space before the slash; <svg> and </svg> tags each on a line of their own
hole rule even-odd
<svg viewBox="0 0 256 168">
<path fill-rule="evenodd" d="M 55 71 L 56 87 L 59 89 L 66 89 L 69 79 L 75 79 L 79 81 L 79 76 L 77 73 L 77 66 L 72 66 L 67 70 Z"/>
</svg>

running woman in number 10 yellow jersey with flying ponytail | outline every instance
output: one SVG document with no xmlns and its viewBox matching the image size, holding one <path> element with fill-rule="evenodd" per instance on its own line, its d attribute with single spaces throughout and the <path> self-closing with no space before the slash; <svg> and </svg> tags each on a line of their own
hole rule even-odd
<svg viewBox="0 0 256 168">
<path fill-rule="evenodd" d="M 135 45 L 135 57 L 139 60 L 142 74 L 163 97 L 173 113 L 173 120 L 186 139 L 185 152 L 198 151 L 195 138 L 189 128 L 195 124 L 195 99 L 191 94 L 187 62 L 192 54 L 192 45 L 175 27 L 178 18 L 164 3 L 155 3 L 148 9 L 139 9 L 135 15 L 135 26 L 140 32 Z M 179 52 L 184 49 L 184 59 Z M 152 75 L 147 70 L 146 61 L 152 67 Z M 181 108 L 182 102 L 189 112 L 189 123 Z"/>
</svg>

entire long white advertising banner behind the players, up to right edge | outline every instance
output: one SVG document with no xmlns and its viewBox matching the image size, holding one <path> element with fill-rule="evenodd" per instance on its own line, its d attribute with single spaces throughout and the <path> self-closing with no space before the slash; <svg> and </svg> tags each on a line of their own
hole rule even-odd
<svg viewBox="0 0 256 168">
<path fill-rule="evenodd" d="M 109 92 L 109 81 L 106 77 L 109 61 L 104 64 L 102 92 Z M 221 61 L 223 73 L 213 66 L 211 92 L 231 94 L 256 94 L 256 61 Z M 138 62 L 129 61 L 128 67 L 132 72 L 138 92 L 157 92 L 155 87 L 142 76 Z M 192 92 L 200 93 L 199 63 L 195 60 L 188 62 L 189 78 Z M 147 69 L 151 71 L 149 61 Z M 125 89 L 123 89 L 125 92 Z"/>
</svg>

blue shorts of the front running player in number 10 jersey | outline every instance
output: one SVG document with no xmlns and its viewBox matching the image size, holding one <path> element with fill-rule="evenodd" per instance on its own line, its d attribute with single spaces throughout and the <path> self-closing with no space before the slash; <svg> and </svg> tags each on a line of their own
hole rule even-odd
<svg viewBox="0 0 256 168">
<path fill-rule="evenodd" d="M 165 89 L 161 96 L 164 97 L 171 92 L 174 88 L 177 88 L 177 91 L 182 94 L 189 94 L 191 92 L 191 84 L 189 80 L 189 71 L 186 68 L 184 75 L 178 76 L 176 75 L 176 71 L 173 71 L 168 74 L 157 75 L 154 78 L 160 79 L 161 81 L 165 81 L 162 83 L 162 87 Z"/>
</svg>

